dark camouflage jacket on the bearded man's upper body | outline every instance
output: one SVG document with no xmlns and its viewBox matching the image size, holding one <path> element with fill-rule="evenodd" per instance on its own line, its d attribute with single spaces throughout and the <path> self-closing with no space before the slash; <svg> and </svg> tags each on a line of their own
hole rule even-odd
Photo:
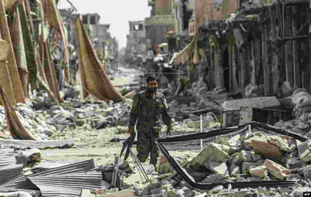
<svg viewBox="0 0 311 197">
<path fill-rule="evenodd" d="M 167 111 L 165 96 L 156 92 L 155 97 L 151 98 L 146 90 L 140 91 L 133 98 L 129 126 L 134 127 L 136 120 L 137 126 L 159 126 L 161 114 L 164 124 L 171 128 L 172 119 Z"/>
</svg>

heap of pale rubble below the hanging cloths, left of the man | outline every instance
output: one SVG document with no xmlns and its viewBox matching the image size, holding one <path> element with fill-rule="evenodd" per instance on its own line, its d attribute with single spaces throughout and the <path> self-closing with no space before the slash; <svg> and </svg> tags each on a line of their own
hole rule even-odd
<svg viewBox="0 0 311 197">
<path fill-rule="evenodd" d="M 15 106 L 16 114 L 26 130 L 38 140 L 53 139 L 58 133 L 77 128 L 102 129 L 128 125 L 130 102 L 107 103 L 90 98 L 84 102 L 65 100 L 57 106 L 46 99 L 47 97 L 46 93 L 42 96 L 38 94 L 30 105 L 17 103 Z M 0 130 L 8 132 L 2 106 Z"/>
</svg>

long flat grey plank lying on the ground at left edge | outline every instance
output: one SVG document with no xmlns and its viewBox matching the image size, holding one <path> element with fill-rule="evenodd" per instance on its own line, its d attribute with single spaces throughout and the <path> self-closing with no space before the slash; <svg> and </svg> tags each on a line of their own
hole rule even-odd
<svg viewBox="0 0 311 197">
<path fill-rule="evenodd" d="M 30 148 L 70 148 L 73 146 L 73 140 L 48 140 L 48 141 L 34 141 L 34 140 L 18 140 L 18 139 L 0 139 L 0 144 L 4 147 L 30 149 Z"/>
</svg>

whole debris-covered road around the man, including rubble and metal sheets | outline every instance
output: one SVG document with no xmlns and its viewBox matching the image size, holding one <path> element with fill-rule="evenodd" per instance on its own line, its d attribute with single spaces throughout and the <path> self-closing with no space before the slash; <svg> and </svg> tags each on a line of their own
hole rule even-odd
<svg viewBox="0 0 311 197">
<path fill-rule="evenodd" d="M 112 82 L 127 94 L 131 88 L 126 84 L 137 82 L 143 86 L 139 72 L 119 68 L 114 75 L 118 77 Z M 11 190 L 34 197 L 38 191 L 51 197 L 105 197 L 108 193 L 244 197 L 299 196 L 311 190 L 311 139 L 285 127 L 277 130 L 256 122 L 215 130 L 219 123 L 211 113 L 202 117 L 207 132 L 200 133 L 195 112 L 202 107 L 177 100 L 168 102 L 174 118 L 174 136 L 165 136 L 166 128 L 162 128 L 159 147 L 163 155 L 158 171 L 147 165 L 148 159 L 142 164 L 147 174 L 144 182 L 132 157 L 126 162 L 122 161 L 123 156 L 121 162 L 116 160 L 128 138 L 125 132 L 132 100 L 114 103 L 87 97 L 82 101 L 77 99 L 73 87 L 62 94 L 66 95 L 67 99 L 58 106 L 41 92 L 32 95 L 29 105 L 16 105 L 20 123 L 37 141 L 8 139 L 6 111 L 1 109 L 4 135 L 0 139 L 0 192 L 17 188 L 20 190 Z M 132 150 L 136 154 L 135 143 Z"/>
</svg>

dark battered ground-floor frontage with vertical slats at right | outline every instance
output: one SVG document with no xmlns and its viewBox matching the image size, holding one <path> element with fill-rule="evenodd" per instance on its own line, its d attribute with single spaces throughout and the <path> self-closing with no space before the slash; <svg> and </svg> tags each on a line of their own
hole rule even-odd
<svg viewBox="0 0 311 197">
<path fill-rule="evenodd" d="M 281 96 L 280 85 L 287 81 L 310 91 L 307 5 L 285 4 L 285 13 L 278 4 L 260 7 L 260 16 L 254 10 L 244 10 L 244 16 L 240 13 L 239 18 L 206 26 L 205 33 L 210 35 L 209 68 L 214 72 L 215 86 L 235 92 L 252 83 L 262 85 L 264 95 Z"/>
</svg>

